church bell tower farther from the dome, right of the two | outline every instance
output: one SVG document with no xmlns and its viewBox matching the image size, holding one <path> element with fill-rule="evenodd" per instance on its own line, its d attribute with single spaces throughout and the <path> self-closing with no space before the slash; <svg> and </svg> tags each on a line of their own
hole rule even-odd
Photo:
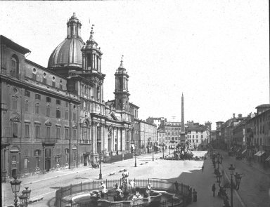
<svg viewBox="0 0 270 207">
<path fill-rule="evenodd" d="M 115 72 L 115 108 L 129 110 L 129 75 L 123 66 L 123 55 L 120 67 Z"/>
</svg>

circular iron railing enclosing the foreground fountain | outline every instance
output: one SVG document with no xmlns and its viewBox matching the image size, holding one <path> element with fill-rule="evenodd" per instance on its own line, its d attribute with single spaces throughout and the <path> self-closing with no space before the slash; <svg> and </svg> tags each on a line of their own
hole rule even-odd
<svg viewBox="0 0 270 207">
<path fill-rule="evenodd" d="M 107 189 L 113 189 L 115 187 L 115 184 L 118 183 L 118 185 L 121 185 L 121 180 L 104 180 L 103 181 L 107 187 Z M 157 179 L 134 179 L 134 182 L 136 183 L 136 187 L 145 188 L 148 183 L 152 185 L 153 190 L 164 190 L 166 192 L 176 193 L 176 188 L 174 185 L 174 182 L 167 182 L 166 180 L 157 180 Z M 57 207 L 65 207 L 65 206 L 77 206 L 77 207 L 83 207 L 83 206 L 91 206 L 91 203 L 79 203 L 77 201 L 72 201 L 71 196 L 74 194 L 87 192 L 94 190 L 100 190 L 100 181 L 92 181 L 92 182 L 81 182 L 76 185 L 69 185 L 66 187 L 61 187 L 56 191 L 56 203 L 55 206 Z M 182 194 L 184 196 L 187 195 L 189 186 L 184 185 L 183 183 L 179 184 L 179 190 L 178 193 Z M 174 202 L 177 198 L 174 197 Z M 128 201 L 130 203 L 130 201 Z M 113 203 L 113 202 L 112 202 Z M 131 202 L 132 203 L 132 202 Z M 169 203 L 171 205 L 169 205 Z M 160 203 L 161 206 L 174 206 L 172 203 L 172 199 L 164 200 Z M 179 201 L 180 203 L 180 201 Z M 119 204 L 119 206 L 123 206 L 123 203 L 114 203 Z M 144 203 L 146 205 L 143 206 L 150 206 L 150 203 Z M 153 204 L 153 203 L 152 203 Z M 115 205 L 114 205 L 115 206 Z M 117 206 L 117 205 L 116 205 Z M 129 205 L 130 206 L 130 205 Z M 141 206 L 141 205 L 140 205 Z"/>
</svg>

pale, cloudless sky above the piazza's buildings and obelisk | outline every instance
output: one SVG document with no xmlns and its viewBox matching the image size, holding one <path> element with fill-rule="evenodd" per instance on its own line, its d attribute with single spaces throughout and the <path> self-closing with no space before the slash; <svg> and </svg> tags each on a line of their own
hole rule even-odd
<svg viewBox="0 0 270 207">
<path fill-rule="evenodd" d="M 211 121 L 212 128 L 269 103 L 266 0 L 0 1 L 0 34 L 47 67 L 72 13 L 85 42 L 95 25 L 105 101 L 114 99 L 114 74 L 124 55 L 129 102 L 140 107 L 140 119 L 181 121 L 182 93 L 185 122 Z"/>
</svg>

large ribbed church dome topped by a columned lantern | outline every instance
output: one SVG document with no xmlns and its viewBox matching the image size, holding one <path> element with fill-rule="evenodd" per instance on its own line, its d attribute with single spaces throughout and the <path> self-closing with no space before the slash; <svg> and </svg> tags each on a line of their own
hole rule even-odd
<svg viewBox="0 0 270 207">
<path fill-rule="evenodd" d="M 76 14 L 68 20 L 68 36 L 51 53 L 48 67 L 82 67 L 82 47 L 84 41 L 81 38 L 81 26 Z"/>
</svg>

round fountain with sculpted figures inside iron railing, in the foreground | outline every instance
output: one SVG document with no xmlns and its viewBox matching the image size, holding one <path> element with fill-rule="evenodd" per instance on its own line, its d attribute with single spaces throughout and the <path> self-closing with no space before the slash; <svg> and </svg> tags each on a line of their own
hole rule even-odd
<svg viewBox="0 0 270 207">
<path fill-rule="evenodd" d="M 172 206 L 182 202 L 183 194 L 188 189 L 188 186 L 181 184 L 181 192 L 176 191 L 174 183 L 163 180 L 129 181 L 127 169 L 119 181 L 93 181 L 85 185 L 81 182 L 80 192 L 74 190 L 79 189 L 78 185 L 61 188 L 56 192 L 56 206 Z"/>
</svg>

